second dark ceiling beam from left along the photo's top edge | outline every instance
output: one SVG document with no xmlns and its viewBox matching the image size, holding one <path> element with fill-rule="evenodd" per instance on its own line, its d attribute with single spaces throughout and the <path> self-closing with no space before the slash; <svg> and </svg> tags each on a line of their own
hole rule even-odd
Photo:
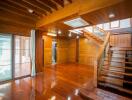
<svg viewBox="0 0 132 100">
<path fill-rule="evenodd" d="M 34 7 L 36 7 L 36 8 L 38 8 L 38 9 L 52 13 L 52 10 L 49 7 L 42 5 L 41 3 L 39 3 L 35 0 L 23 0 L 23 1 L 34 6 Z"/>
</svg>

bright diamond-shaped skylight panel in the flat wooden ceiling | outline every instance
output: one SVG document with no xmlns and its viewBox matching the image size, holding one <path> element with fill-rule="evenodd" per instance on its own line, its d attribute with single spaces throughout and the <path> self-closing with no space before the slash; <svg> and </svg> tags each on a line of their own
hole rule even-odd
<svg viewBox="0 0 132 100">
<path fill-rule="evenodd" d="M 64 24 L 66 24 L 68 26 L 71 26 L 73 28 L 89 25 L 89 23 L 87 23 L 82 18 L 76 18 L 76 19 L 72 19 L 72 20 L 69 20 L 69 21 L 65 21 Z"/>
</svg>

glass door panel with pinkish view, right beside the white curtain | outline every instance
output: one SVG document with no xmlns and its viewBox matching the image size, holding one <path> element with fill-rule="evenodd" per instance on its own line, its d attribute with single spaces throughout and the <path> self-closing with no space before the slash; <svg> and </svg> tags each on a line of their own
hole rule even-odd
<svg viewBox="0 0 132 100">
<path fill-rule="evenodd" d="M 30 38 L 24 36 L 15 36 L 15 78 L 27 76 L 31 74 L 30 61 Z"/>
</svg>

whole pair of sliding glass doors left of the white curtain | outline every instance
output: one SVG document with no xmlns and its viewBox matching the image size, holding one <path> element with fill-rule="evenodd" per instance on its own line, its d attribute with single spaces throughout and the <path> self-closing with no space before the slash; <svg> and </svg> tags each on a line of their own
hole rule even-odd
<svg viewBox="0 0 132 100">
<path fill-rule="evenodd" d="M 30 37 L 0 34 L 0 82 L 29 75 Z"/>
</svg>

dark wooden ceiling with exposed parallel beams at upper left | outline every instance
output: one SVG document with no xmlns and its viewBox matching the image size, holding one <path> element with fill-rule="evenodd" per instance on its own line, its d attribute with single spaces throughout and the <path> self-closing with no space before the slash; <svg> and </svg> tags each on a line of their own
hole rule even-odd
<svg viewBox="0 0 132 100">
<path fill-rule="evenodd" d="M 0 0 L 0 27 L 35 28 L 42 17 L 70 3 L 72 0 Z"/>
</svg>

